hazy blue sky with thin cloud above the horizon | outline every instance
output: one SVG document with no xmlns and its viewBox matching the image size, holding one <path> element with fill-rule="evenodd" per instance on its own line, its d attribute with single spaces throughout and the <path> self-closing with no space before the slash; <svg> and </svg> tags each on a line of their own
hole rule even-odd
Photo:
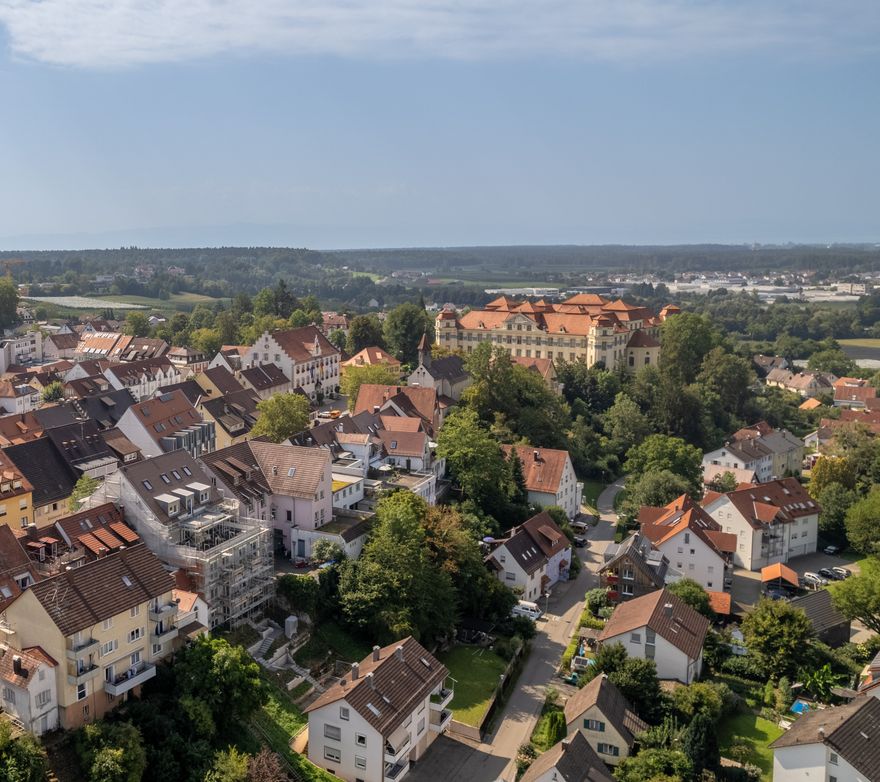
<svg viewBox="0 0 880 782">
<path fill-rule="evenodd" d="M 880 241 L 877 0 L 0 0 L 0 249 Z"/>
</svg>

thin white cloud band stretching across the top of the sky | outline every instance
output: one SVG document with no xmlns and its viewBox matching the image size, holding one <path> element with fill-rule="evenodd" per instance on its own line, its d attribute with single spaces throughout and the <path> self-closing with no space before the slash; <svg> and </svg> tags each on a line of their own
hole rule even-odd
<svg viewBox="0 0 880 782">
<path fill-rule="evenodd" d="M 20 59 L 80 68 L 222 54 L 645 60 L 876 51 L 877 0 L 0 0 Z"/>
</svg>

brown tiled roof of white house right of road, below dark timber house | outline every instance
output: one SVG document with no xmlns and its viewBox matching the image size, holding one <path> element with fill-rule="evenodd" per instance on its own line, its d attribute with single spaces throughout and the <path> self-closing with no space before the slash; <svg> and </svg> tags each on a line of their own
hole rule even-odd
<svg viewBox="0 0 880 782">
<path fill-rule="evenodd" d="M 709 620 L 694 611 L 666 589 L 621 603 L 605 624 L 600 641 L 650 627 L 690 659 L 696 660 L 703 648 Z"/>
</svg>

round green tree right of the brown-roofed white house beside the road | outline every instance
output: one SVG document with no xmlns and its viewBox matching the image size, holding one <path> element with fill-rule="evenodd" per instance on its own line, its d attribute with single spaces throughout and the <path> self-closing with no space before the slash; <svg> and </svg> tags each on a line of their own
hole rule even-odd
<svg viewBox="0 0 880 782">
<path fill-rule="evenodd" d="M 746 646 L 770 678 L 790 676 L 813 637 L 807 615 L 783 600 L 762 599 L 743 619 Z"/>
</svg>

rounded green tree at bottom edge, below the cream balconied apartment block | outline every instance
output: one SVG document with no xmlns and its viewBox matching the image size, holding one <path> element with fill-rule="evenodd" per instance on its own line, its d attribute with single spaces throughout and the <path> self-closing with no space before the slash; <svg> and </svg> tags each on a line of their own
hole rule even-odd
<svg viewBox="0 0 880 782">
<path fill-rule="evenodd" d="M 76 751 L 90 782 L 139 782 L 147 766 L 143 738 L 130 722 L 86 725 Z"/>
</svg>

